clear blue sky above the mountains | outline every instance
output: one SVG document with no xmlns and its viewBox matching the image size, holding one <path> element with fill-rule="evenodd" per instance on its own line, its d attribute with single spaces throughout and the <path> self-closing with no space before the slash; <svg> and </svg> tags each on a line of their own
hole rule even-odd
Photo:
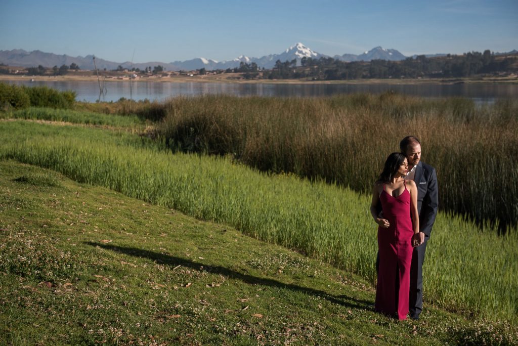
<svg viewBox="0 0 518 346">
<path fill-rule="evenodd" d="M 0 50 L 115 62 L 281 53 L 405 55 L 518 49 L 518 0 L 0 0 Z"/>
</svg>

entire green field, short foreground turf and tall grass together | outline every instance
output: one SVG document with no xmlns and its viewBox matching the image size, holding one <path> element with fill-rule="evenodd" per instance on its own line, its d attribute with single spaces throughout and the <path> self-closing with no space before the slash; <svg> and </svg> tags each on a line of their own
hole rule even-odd
<svg viewBox="0 0 518 346">
<path fill-rule="evenodd" d="M 172 154 L 142 131 L 0 121 L 0 341 L 517 342 L 516 229 L 498 236 L 439 213 L 423 319 L 393 321 L 369 308 L 368 196 Z"/>
</svg>

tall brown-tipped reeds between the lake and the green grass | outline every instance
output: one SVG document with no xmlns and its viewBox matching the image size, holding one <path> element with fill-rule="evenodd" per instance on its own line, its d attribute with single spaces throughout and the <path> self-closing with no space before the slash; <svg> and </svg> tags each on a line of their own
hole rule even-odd
<svg viewBox="0 0 518 346">
<path fill-rule="evenodd" d="M 156 105 L 155 105 L 156 107 Z M 437 169 L 440 208 L 505 230 L 518 222 L 518 101 L 393 93 L 328 98 L 178 97 L 163 104 L 170 148 L 231 154 L 260 170 L 370 192 L 399 141 L 422 141 Z"/>
</svg>

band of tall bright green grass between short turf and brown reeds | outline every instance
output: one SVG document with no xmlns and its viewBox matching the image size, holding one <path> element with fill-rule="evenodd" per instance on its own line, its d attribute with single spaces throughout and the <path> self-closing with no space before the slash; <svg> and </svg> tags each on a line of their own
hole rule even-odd
<svg viewBox="0 0 518 346">
<path fill-rule="evenodd" d="M 244 234 L 375 281 L 376 224 L 369 198 L 294 175 L 271 175 L 231 157 L 172 154 L 131 135 L 93 128 L 4 122 L 0 159 L 61 172 L 79 182 L 232 225 Z M 136 137 L 136 136 L 135 136 Z M 424 265 L 426 304 L 518 322 L 518 232 L 440 212 Z"/>
</svg>

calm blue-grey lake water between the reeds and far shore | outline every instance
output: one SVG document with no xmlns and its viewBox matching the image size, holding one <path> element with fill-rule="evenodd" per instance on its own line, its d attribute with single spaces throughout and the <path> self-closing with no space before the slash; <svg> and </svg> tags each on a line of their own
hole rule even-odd
<svg viewBox="0 0 518 346">
<path fill-rule="evenodd" d="M 28 86 L 47 85 L 58 90 L 74 90 L 77 100 L 96 102 L 99 86 L 93 81 L 10 81 Z M 130 81 L 109 81 L 104 84 L 103 101 L 130 98 Z M 477 103 L 493 103 L 498 98 L 518 96 L 518 84 L 279 84 L 279 83 L 168 83 L 133 82 L 133 99 L 163 100 L 179 95 L 228 94 L 236 96 L 329 96 L 358 92 L 383 93 L 393 90 L 398 93 L 422 97 L 462 96 Z"/>
</svg>

